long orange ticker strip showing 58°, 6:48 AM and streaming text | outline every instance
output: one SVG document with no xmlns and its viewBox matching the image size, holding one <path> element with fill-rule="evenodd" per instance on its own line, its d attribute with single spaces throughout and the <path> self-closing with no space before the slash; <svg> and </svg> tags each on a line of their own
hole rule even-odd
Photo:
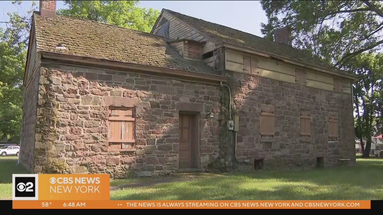
<svg viewBox="0 0 383 215">
<path fill-rule="evenodd" d="M 14 200 L 13 209 L 370 209 L 370 200 Z"/>
</svg>

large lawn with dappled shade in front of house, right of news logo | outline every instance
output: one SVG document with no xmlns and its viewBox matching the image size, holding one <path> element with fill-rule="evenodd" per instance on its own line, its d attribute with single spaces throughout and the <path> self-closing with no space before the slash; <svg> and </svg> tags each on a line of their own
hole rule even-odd
<svg viewBox="0 0 383 215">
<path fill-rule="evenodd" d="M 304 171 L 253 171 L 111 192 L 111 199 L 383 199 L 383 160 L 354 167 Z"/>
</svg>

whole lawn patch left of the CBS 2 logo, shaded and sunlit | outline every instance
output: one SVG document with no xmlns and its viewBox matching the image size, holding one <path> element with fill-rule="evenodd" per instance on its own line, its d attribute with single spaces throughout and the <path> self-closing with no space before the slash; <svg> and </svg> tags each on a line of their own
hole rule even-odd
<svg viewBox="0 0 383 215">
<path fill-rule="evenodd" d="M 17 165 L 18 156 L 0 156 L 0 199 L 12 197 L 12 174 L 27 173 Z"/>
</svg>

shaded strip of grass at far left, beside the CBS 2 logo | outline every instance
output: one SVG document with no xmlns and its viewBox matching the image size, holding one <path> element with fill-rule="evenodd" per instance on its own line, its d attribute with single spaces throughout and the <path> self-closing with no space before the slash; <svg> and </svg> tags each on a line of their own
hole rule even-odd
<svg viewBox="0 0 383 215">
<path fill-rule="evenodd" d="M 12 174 L 28 173 L 17 165 L 17 156 L 0 156 L 0 184 L 12 183 Z"/>
</svg>

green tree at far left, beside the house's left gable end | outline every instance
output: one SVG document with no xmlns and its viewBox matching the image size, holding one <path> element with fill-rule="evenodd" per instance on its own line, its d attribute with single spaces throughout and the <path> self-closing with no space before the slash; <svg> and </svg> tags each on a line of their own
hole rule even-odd
<svg viewBox="0 0 383 215">
<path fill-rule="evenodd" d="M 23 77 L 28 47 L 31 13 L 35 3 L 26 13 L 21 1 L 13 1 L 17 12 L 7 13 L 9 21 L 0 28 L 0 139 L 20 140 L 23 103 Z"/>
</svg>

